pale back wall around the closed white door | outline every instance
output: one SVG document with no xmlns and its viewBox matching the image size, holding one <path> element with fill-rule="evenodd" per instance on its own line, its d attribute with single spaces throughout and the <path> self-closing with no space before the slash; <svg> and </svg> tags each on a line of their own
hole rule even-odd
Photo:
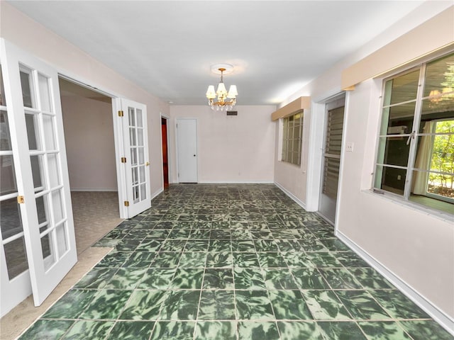
<svg viewBox="0 0 454 340">
<path fill-rule="evenodd" d="M 171 180 L 177 182 L 175 122 L 197 119 L 199 183 L 272 183 L 275 106 L 236 106 L 237 116 L 209 106 L 170 106 Z"/>
</svg>

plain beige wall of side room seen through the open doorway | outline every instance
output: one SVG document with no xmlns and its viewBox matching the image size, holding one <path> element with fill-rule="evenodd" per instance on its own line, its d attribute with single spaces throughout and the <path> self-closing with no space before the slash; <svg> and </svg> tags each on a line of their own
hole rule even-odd
<svg viewBox="0 0 454 340">
<path fill-rule="evenodd" d="M 71 191 L 117 191 L 112 105 L 62 96 Z"/>
</svg>

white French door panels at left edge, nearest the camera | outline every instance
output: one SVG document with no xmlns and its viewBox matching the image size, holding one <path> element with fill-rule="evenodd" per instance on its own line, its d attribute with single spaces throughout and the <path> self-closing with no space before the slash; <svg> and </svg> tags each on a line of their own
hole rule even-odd
<svg viewBox="0 0 454 340">
<path fill-rule="evenodd" d="M 77 262 L 77 251 L 57 72 L 3 39 L 1 67 L 3 315 L 30 293 L 26 286 L 40 305 Z M 16 252 L 21 264 L 12 271 Z"/>
</svg>

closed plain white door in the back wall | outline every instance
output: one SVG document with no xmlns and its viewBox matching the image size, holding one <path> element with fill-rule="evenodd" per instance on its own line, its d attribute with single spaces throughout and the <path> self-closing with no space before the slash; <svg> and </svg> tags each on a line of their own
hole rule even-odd
<svg viewBox="0 0 454 340">
<path fill-rule="evenodd" d="M 197 120 L 177 120 L 178 181 L 197 183 Z"/>
</svg>

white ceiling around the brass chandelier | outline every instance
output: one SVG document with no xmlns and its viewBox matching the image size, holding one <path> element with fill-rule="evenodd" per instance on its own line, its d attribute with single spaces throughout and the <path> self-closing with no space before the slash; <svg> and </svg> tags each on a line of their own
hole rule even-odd
<svg viewBox="0 0 454 340">
<path fill-rule="evenodd" d="M 8 1 L 163 101 L 276 104 L 423 1 Z"/>
</svg>

